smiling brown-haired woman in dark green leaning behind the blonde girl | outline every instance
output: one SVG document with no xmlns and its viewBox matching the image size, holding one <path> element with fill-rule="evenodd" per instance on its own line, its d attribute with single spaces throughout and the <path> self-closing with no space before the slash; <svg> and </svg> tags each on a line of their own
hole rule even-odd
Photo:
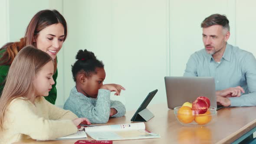
<svg viewBox="0 0 256 144">
<path fill-rule="evenodd" d="M 66 20 L 57 10 L 41 10 L 36 13 L 27 26 L 25 36 L 19 42 L 7 43 L 0 49 L 0 94 L 3 91 L 4 81 L 13 59 L 24 46 L 32 45 L 48 53 L 54 59 L 53 79 L 55 84 L 46 100 L 55 104 L 58 75 L 56 55 L 62 48 L 66 37 Z"/>
</svg>

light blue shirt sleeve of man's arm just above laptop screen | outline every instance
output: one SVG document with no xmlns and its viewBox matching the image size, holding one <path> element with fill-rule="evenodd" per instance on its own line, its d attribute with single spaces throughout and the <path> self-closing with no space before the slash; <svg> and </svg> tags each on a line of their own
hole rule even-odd
<svg viewBox="0 0 256 144">
<path fill-rule="evenodd" d="M 195 54 L 191 55 L 187 61 L 186 69 L 183 76 L 197 76 L 197 61 Z"/>
</svg>

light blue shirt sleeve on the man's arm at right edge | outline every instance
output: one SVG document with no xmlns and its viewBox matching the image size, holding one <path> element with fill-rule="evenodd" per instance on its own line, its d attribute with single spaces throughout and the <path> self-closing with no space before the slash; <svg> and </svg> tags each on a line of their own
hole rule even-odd
<svg viewBox="0 0 256 144">
<path fill-rule="evenodd" d="M 245 56 L 242 71 L 246 75 L 249 93 L 229 98 L 231 107 L 256 106 L 256 59 L 252 53 Z"/>
</svg>

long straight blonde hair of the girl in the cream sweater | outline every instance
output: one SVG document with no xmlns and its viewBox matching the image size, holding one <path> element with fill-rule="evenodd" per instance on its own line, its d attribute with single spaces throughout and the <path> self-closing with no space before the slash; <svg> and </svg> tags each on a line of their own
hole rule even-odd
<svg viewBox="0 0 256 144">
<path fill-rule="evenodd" d="M 33 79 L 46 63 L 53 59 L 34 46 L 26 46 L 13 59 L 6 84 L 0 97 L 0 131 L 3 131 L 5 111 L 10 102 L 19 97 L 35 101 Z"/>
</svg>

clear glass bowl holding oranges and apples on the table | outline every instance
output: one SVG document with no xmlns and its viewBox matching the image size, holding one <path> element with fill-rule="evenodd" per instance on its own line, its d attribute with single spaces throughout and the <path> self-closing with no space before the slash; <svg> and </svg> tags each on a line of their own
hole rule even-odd
<svg viewBox="0 0 256 144">
<path fill-rule="evenodd" d="M 217 110 L 214 107 L 208 108 L 207 111 L 193 111 L 191 108 L 176 107 L 174 115 L 177 120 L 186 127 L 202 127 L 212 124 L 217 119 Z"/>
</svg>

